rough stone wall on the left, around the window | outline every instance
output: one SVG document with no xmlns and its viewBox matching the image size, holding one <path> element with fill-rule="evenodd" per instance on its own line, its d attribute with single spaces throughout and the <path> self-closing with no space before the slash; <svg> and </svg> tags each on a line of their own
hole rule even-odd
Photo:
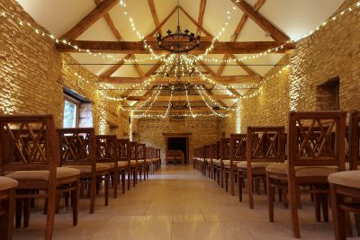
<svg viewBox="0 0 360 240">
<path fill-rule="evenodd" d="M 59 54 L 53 40 L 21 26 L 20 21 L 30 22 L 46 31 L 14 0 L 0 1 L 0 13 L 3 11 L 14 17 L 0 16 L 0 113 L 51 113 L 57 127 L 62 127 L 63 86 L 67 86 L 93 102 L 90 115 L 97 133 L 109 133 L 112 125 L 118 126 L 113 133 L 119 137 L 129 134 L 128 113 L 120 111 L 119 102 L 107 100 L 111 93 L 97 90 L 97 76 L 85 67 L 67 66 L 76 63 L 75 59 Z M 85 79 L 82 88 L 80 78 Z"/>
</svg>

